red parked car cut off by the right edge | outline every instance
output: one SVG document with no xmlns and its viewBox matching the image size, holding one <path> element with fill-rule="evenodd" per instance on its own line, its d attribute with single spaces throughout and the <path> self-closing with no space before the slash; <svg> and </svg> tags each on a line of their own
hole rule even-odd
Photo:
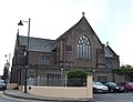
<svg viewBox="0 0 133 102">
<path fill-rule="evenodd" d="M 133 91 L 133 82 L 120 82 L 119 85 L 124 86 L 124 91 Z"/>
</svg>

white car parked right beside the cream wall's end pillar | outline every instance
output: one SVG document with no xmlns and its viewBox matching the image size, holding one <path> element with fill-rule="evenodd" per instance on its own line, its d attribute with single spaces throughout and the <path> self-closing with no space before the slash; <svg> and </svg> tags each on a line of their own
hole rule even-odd
<svg viewBox="0 0 133 102">
<path fill-rule="evenodd" d="M 99 92 L 109 92 L 109 88 L 101 82 L 93 82 L 93 92 L 99 93 Z"/>
</svg>

